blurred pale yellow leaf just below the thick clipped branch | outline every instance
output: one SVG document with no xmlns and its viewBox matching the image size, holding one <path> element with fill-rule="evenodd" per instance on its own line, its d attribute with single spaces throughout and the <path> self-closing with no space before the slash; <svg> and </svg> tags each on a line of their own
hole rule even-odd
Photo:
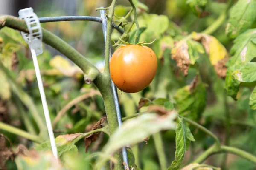
<svg viewBox="0 0 256 170">
<path fill-rule="evenodd" d="M 49 64 L 53 68 L 56 68 L 58 71 L 60 71 L 60 73 L 64 74 L 65 76 L 73 77 L 77 73 L 78 74 L 83 73 L 79 67 L 72 66 L 67 59 L 64 59 L 64 57 L 59 55 L 51 59 Z"/>
</svg>

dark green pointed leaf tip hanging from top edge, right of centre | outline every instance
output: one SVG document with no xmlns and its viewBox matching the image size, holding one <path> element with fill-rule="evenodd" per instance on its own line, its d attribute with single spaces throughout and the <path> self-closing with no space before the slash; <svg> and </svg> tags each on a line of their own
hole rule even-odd
<svg viewBox="0 0 256 170">
<path fill-rule="evenodd" d="M 207 4 L 207 0 L 187 0 L 186 3 L 192 8 L 193 13 L 197 17 L 201 17 L 201 14 L 204 11 L 204 8 Z"/>
</svg>

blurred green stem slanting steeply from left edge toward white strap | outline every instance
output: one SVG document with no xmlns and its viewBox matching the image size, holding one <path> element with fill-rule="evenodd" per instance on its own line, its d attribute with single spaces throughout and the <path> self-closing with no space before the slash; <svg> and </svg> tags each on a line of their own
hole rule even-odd
<svg viewBox="0 0 256 170">
<path fill-rule="evenodd" d="M 20 98 L 20 100 L 26 105 L 29 109 L 30 113 L 32 114 L 35 122 L 37 123 L 40 133 L 44 139 L 49 139 L 47 127 L 44 124 L 43 118 L 41 114 L 38 112 L 37 108 L 35 107 L 35 103 L 33 102 L 32 98 L 26 94 L 25 91 L 17 84 L 15 79 L 12 77 L 11 72 L 0 62 L 0 69 L 6 74 L 6 77 L 9 79 L 13 92 Z"/>
</svg>

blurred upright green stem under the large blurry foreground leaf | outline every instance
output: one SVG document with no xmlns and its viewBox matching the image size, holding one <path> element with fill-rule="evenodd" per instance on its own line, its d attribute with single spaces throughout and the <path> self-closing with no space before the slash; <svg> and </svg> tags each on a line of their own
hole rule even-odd
<svg viewBox="0 0 256 170">
<path fill-rule="evenodd" d="M 153 135 L 153 139 L 154 139 L 154 145 L 156 147 L 157 150 L 157 155 L 158 155 L 158 159 L 160 162 L 160 166 L 161 166 L 161 170 L 167 170 L 167 161 L 166 161 L 166 156 L 164 154 L 164 146 L 163 146 L 163 140 L 161 137 L 161 133 L 155 133 Z"/>
</svg>

